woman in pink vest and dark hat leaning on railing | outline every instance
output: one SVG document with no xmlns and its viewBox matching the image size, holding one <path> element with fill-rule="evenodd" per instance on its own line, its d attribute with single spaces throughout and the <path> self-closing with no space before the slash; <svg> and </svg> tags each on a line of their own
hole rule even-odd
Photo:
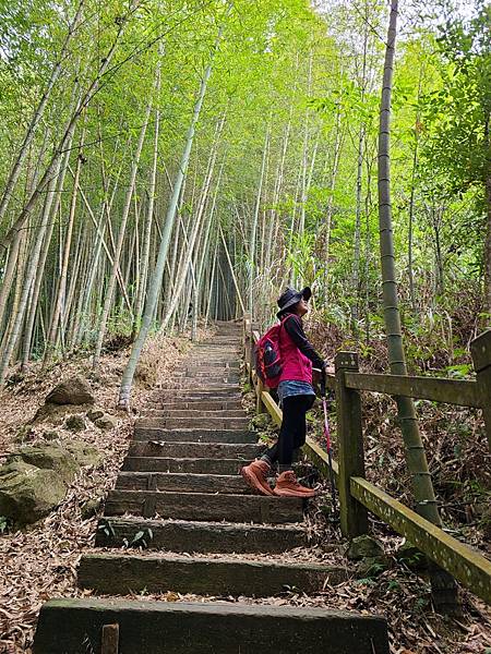
<svg viewBox="0 0 491 654">
<path fill-rule="evenodd" d="M 282 354 L 282 375 L 278 384 L 278 397 L 283 409 L 283 422 L 277 443 L 261 459 L 256 459 L 241 470 L 241 474 L 251 488 L 262 495 L 288 497 L 313 497 L 315 492 L 298 483 L 291 469 L 294 450 L 306 443 L 306 413 L 315 400 L 312 386 L 312 367 L 324 373 L 325 362 L 315 352 L 306 337 L 302 316 L 309 311 L 308 302 L 312 295 L 309 287 L 298 292 L 287 290 L 278 299 L 282 320 L 279 330 L 279 350 Z M 267 476 L 272 465 L 278 462 L 276 485 L 271 488 Z"/>
</svg>

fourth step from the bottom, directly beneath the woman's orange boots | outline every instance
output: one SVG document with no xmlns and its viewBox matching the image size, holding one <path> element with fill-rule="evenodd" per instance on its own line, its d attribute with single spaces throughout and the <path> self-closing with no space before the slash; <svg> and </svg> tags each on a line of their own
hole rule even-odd
<svg viewBox="0 0 491 654">
<path fill-rule="evenodd" d="M 303 520 L 300 497 L 219 495 L 212 493 L 164 493 L 158 491 L 110 491 L 105 516 L 143 516 L 175 520 L 258 522 L 282 524 Z"/>
</svg>

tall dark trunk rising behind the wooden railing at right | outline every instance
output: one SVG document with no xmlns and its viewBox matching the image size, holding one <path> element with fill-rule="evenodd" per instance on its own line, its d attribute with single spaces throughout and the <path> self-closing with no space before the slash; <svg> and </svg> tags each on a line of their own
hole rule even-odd
<svg viewBox="0 0 491 654">
<path fill-rule="evenodd" d="M 380 106 L 379 227 L 384 320 L 387 334 L 390 370 L 393 375 L 407 375 L 398 307 L 391 205 L 391 95 L 396 31 L 397 0 L 392 0 Z M 419 433 L 414 401 L 411 398 L 406 397 L 396 397 L 395 400 L 406 450 L 406 461 L 412 480 L 416 511 L 433 524 L 441 525 L 433 484 L 428 470 L 421 435 Z M 435 606 L 443 611 L 455 611 L 457 606 L 457 593 L 454 579 L 447 572 L 433 565 L 431 582 Z"/>
</svg>

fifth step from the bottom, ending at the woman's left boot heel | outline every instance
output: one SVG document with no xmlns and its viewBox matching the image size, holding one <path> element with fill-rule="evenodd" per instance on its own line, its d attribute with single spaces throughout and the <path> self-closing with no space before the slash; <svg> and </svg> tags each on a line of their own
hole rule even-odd
<svg viewBox="0 0 491 654">
<path fill-rule="evenodd" d="M 228 493 L 250 495 L 238 474 L 189 474 L 175 472 L 120 472 L 117 491 L 166 491 L 170 493 Z"/>
</svg>

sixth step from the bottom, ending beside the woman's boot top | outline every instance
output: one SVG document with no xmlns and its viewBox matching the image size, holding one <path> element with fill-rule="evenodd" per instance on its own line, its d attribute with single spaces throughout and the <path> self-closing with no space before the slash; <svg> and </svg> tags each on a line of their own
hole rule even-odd
<svg viewBox="0 0 491 654">
<path fill-rule="evenodd" d="M 189 474 L 239 474 L 247 459 L 175 459 L 169 457 L 127 457 L 123 471 L 187 472 Z"/>
</svg>

